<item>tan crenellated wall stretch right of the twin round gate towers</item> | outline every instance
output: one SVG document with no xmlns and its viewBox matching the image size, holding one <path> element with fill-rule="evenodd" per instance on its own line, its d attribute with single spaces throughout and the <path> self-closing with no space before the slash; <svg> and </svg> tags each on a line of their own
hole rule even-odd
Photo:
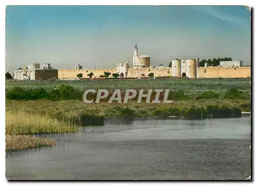
<svg viewBox="0 0 256 185">
<path fill-rule="evenodd" d="M 199 77 L 251 77 L 251 67 L 199 67 Z"/>
</svg>

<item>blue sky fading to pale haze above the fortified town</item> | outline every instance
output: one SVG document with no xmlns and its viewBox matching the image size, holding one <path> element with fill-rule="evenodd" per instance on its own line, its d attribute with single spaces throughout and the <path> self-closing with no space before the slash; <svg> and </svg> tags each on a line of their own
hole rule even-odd
<svg viewBox="0 0 256 185">
<path fill-rule="evenodd" d="M 6 70 L 114 69 L 135 43 L 151 65 L 175 58 L 251 63 L 250 12 L 243 6 L 8 6 Z"/>
</svg>

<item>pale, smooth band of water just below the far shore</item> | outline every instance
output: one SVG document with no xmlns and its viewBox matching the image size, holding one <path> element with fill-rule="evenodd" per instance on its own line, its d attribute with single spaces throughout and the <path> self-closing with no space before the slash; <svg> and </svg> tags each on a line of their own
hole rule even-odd
<svg viewBox="0 0 256 185">
<path fill-rule="evenodd" d="M 82 127 L 78 133 L 38 135 L 69 145 L 73 141 L 124 141 L 147 139 L 247 139 L 250 119 L 181 120 L 173 118 L 110 119 L 104 126 Z"/>
</svg>

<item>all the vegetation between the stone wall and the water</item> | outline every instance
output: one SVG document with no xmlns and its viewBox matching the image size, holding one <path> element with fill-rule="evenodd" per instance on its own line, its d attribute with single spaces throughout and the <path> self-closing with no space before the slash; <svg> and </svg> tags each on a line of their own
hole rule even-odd
<svg viewBox="0 0 256 185">
<path fill-rule="evenodd" d="M 35 134 L 72 133 L 80 126 L 103 125 L 108 118 L 168 117 L 184 119 L 241 117 L 250 112 L 250 78 L 155 79 L 108 81 L 6 81 L 6 150 L 53 146 Z M 173 104 L 86 104 L 87 89 L 169 89 Z M 91 98 L 96 95 L 92 94 Z M 154 98 L 154 96 L 152 96 Z M 88 98 L 89 99 L 89 98 Z M 136 99 L 136 98 L 135 98 Z"/>
</svg>

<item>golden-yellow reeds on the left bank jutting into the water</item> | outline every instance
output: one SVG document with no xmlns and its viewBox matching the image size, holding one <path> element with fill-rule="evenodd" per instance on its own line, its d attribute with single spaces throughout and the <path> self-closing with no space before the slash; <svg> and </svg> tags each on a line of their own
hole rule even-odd
<svg viewBox="0 0 256 185">
<path fill-rule="evenodd" d="M 21 110 L 6 111 L 6 151 L 54 146 L 55 141 L 33 135 L 72 133 L 77 130 L 77 126 L 47 114 L 38 115 Z"/>
</svg>

